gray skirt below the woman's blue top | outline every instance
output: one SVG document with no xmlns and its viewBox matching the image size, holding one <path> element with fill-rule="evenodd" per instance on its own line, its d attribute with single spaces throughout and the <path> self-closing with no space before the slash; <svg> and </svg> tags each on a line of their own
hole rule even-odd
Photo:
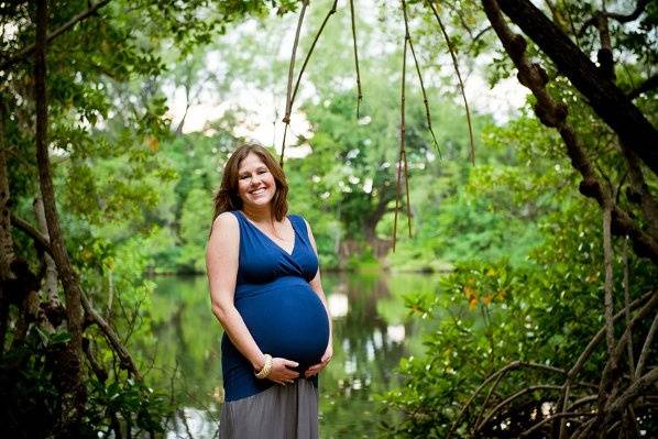
<svg viewBox="0 0 658 439">
<path fill-rule="evenodd" d="M 220 439 L 317 439 L 318 389 L 305 378 L 224 403 Z"/>
</svg>

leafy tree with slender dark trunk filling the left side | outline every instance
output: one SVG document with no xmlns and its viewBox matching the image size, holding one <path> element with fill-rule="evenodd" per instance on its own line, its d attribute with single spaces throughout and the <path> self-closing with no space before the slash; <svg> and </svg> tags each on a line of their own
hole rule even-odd
<svg viewBox="0 0 658 439">
<path fill-rule="evenodd" d="M 43 0 L 1 8 L 6 37 L 0 43 L 4 231 L 0 380 L 3 400 L 11 402 L 2 405 L 3 425 L 9 433 L 35 437 L 77 437 L 105 428 L 121 437 L 133 422 L 153 432 L 161 428 L 162 406 L 142 383 L 117 334 L 114 328 L 124 322 L 108 321 L 96 308 L 102 297 L 89 290 L 96 289 L 89 288 L 92 279 L 111 271 L 110 259 L 102 255 L 102 245 L 94 246 L 98 242 L 72 245 L 72 231 L 79 231 L 76 226 L 98 224 L 103 215 L 120 210 L 117 205 L 108 207 L 113 201 L 128 208 L 124 213 L 149 201 L 138 195 L 140 189 L 144 189 L 140 195 L 149 195 L 149 184 L 131 188 L 114 180 L 112 190 L 99 191 L 101 185 L 95 177 L 105 184 L 107 175 L 94 175 L 91 163 L 125 154 L 133 160 L 125 166 L 128 174 L 157 175 L 158 171 L 150 169 L 156 160 L 149 152 L 157 151 L 160 139 L 168 134 L 164 99 L 154 87 L 154 78 L 165 68 L 156 54 L 160 47 L 173 42 L 182 52 L 189 51 L 226 23 L 264 9 L 256 2 L 217 2 L 209 8 L 205 1 L 163 6 L 149 0 Z M 138 77 L 145 78 L 143 87 L 131 89 L 129 83 Z M 109 175 L 117 177 L 119 172 L 114 168 Z M 63 182 L 68 195 L 84 197 L 57 197 L 55 189 Z M 120 193 L 134 198 L 113 197 Z M 39 231 L 24 219 L 25 201 L 31 198 L 43 201 L 47 231 Z M 62 204 L 64 215 L 57 206 Z M 11 233 L 18 231 L 33 241 L 36 251 Z M 90 266 L 94 252 L 103 262 Z M 39 294 L 46 254 L 54 260 L 63 286 L 62 301 L 56 290 L 44 297 Z M 112 293 L 110 288 L 110 307 Z M 13 329 L 8 332 L 8 327 Z M 98 347 L 105 351 L 101 355 Z M 112 362 L 120 369 L 111 370 Z M 90 381 L 87 372 L 92 373 Z M 106 398 L 106 392 L 114 396 Z M 135 407 L 135 400 L 143 405 Z M 96 404 L 108 409 L 98 410 Z M 39 422 L 32 421 L 35 416 Z M 85 418 L 92 421 L 84 422 Z"/>
</svg>

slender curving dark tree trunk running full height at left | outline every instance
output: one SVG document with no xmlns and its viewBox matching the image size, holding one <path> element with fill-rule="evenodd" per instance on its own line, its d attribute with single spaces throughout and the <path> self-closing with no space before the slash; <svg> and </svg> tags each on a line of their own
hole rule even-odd
<svg viewBox="0 0 658 439">
<path fill-rule="evenodd" d="M 46 100 L 46 0 L 36 2 L 36 43 L 34 50 L 34 99 L 36 108 L 36 163 L 39 183 L 48 224 L 48 235 L 53 259 L 57 264 L 66 296 L 66 318 L 70 341 L 62 353 L 57 371 L 53 375 L 55 385 L 61 389 L 62 415 L 61 437 L 76 437 L 80 427 L 85 406 L 85 387 L 83 385 L 83 308 L 80 286 L 77 275 L 70 265 L 64 239 L 59 231 L 59 218 L 55 205 L 55 190 L 51 174 L 47 150 L 47 100 Z"/>
</svg>

